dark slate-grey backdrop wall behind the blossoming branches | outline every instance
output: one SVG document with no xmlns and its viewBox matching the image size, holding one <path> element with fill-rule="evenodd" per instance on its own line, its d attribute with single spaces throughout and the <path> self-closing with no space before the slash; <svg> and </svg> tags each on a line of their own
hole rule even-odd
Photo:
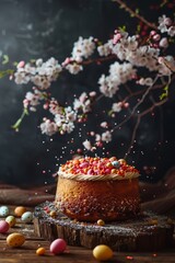
<svg viewBox="0 0 175 263">
<path fill-rule="evenodd" d="M 131 2 L 128 1 L 133 9 L 140 4 L 141 13 L 152 22 L 156 23 L 158 14 L 164 13 L 158 9 L 159 1 Z M 150 9 L 149 2 L 154 7 Z M 165 11 L 171 12 L 171 9 L 166 8 Z M 119 25 L 126 24 L 133 34 L 137 22 L 109 0 L 0 0 L 0 50 L 9 55 L 11 61 L 54 56 L 61 62 L 70 55 L 80 35 L 95 36 L 105 42 Z M 96 81 L 103 71 L 107 72 L 106 66 L 91 66 L 75 77 L 62 75 L 51 87 L 52 94 L 59 102 L 69 103 L 74 93 L 97 90 Z M 70 149 L 75 151 L 81 147 L 77 132 L 70 136 L 52 136 L 52 140 L 42 136 L 38 129 L 45 116 L 42 108 L 24 119 L 19 133 L 11 128 L 22 113 L 22 101 L 30 88 L 16 85 L 8 77 L 0 80 L 0 181 L 20 186 L 52 183 L 55 179 L 51 175 L 60 162 L 71 158 Z M 96 106 L 97 112 L 104 103 L 101 101 Z M 140 169 L 142 180 L 155 182 L 175 164 L 174 110 L 174 88 L 171 87 L 170 102 L 156 110 L 154 117 L 148 115 L 141 122 L 128 161 Z M 95 122 L 95 117 L 90 116 L 89 130 Z M 115 134 L 113 144 L 106 150 L 101 149 L 98 155 L 109 151 L 112 156 L 122 158 L 133 124 L 133 121 L 126 124 L 122 130 Z M 78 129 L 80 127 L 83 126 Z M 83 138 L 85 133 L 83 129 Z M 68 141 L 72 137 L 74 144 L 70 147 Z M 62 155 L 65 146 L 68 148 L 63 149 Z"/>
</svg>

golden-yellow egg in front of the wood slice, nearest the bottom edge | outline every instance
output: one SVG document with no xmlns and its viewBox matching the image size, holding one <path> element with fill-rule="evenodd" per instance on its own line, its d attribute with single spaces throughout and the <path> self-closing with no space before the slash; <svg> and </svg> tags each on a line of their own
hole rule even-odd
<svg viewBox="0 0 175 263">
<path fill-rule="evenodd" d="M 98 244 L 93 249 L 93 256 L 98 261 L 107 261 L 113 256 L 113 250 L 106 244 Z"/>
</svg>

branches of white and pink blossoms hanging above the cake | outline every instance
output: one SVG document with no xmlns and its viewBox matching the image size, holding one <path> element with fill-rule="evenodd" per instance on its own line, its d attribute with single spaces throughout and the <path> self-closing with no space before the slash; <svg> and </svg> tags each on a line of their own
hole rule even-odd
<svg viewBox="0 0 175 263">
<path fill-rule="evenodd" d="M 19 130 L 24 116 L 28 112 L 36 112 L 37 106 L 42 104 L 51 116 L 43 118 L 39 126 L 42 134 L 70 134 L 77 123 L 89 121 L 89 114 L 93 113 L 95 104 L 106 99 L 110 102 L 106 119 L 98 124 L 97 130 L 88 132 L 82 145 L 85 150 L 95 151 L 96 148 L 110 142 L 116 130 L 135 117 L 137 121 L 126 157 L 130 153 L 141 119 L 168 101 L 168 89 L 175 79 L 175 59 L 167 50 L 174 42 L 175 23 L 171 18 L 162 15 L 158 25 L 151 24 L 122 1 L 115 1 L 151 28 L 147 37 L 142 37 L 141 34 L 129 35 L 128 32 L 117 28 L 105 44 L 94 37 L 80 36 L 73 45 L 71 56 L 61 64 L 55 58 L 47 61 L 39 58 L 27 64 L 19 62 L 15 72 L 10 72 L 11 79 L 18 84 L 32 83 L 33 87 L 23 101 L 22 116 L 13 125 L 15 130 Z M 61 105 L 52 98 L 51 83 L 65 71 L 78 75 L 92 64 L 101 66 L 108 61 L 108 75 L 100 76 L 98 91 L 83 92 L 68 106 Z M 127 93 L 125 98 L 121 92 L 124 89 Z M 150 98 L 153 99 L 147 106 Z M 135 105 L 131 103 L 133 99 L 137 100 Z M 142 105 L 144 110 L 141 110 Z M 114 121 L 118 119 L 122 112 L 124 119 L 115 125 Z"/>
</svg>

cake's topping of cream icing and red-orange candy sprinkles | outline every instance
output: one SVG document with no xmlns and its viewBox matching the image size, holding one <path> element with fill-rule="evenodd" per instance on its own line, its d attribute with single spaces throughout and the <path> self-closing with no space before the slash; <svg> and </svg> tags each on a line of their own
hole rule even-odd
<svg viewBox="0 0 175 263">
<path fill-rule="evenodd" d="M 118 179 L 137 178 L 139 171 L 127 164 L 126 160 L 116 157 L 100 158 L 100 157 L 84 157 L 80 159 L 69 160 L 61 164 L 60 175 L 102 175 L 102 176 L 117 176 Z"/>
</svg>

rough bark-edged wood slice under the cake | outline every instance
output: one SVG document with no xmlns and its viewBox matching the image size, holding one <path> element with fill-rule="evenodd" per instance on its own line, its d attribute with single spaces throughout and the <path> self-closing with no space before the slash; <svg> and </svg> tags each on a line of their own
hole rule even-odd
<svg viewBox="0 0 175 263">
<path fill-rule="evenodd" d="M 51 217 L 49 211 L 56 211 Z M 165 216 L 144 211 L 137 219 L 97 226 L 80 222 L 61 214 L 51 202 L 35 207 L 34 229 L 38 237 L 52 241 L 62 238 L 69 245 L 93 249 L 108 244 L 115 251 L 159 251 L 173 244 L 174 225 Z"/>
</svg>

